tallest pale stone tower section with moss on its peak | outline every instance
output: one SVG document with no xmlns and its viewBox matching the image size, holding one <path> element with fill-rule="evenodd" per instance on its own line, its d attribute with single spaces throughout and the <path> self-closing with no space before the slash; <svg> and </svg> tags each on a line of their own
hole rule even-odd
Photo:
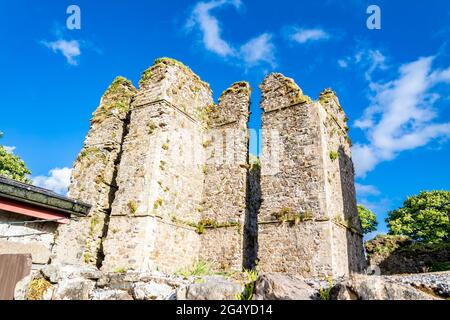
<svg viewBox="0 0 450 320">
<path fill-rule="evenodd" d="M 103 269 L 172 272 L 198 258 L 202 116 L 212 104 L 211 91 L 168 59 L 144 72 L 140 88 L 123 145 Z"/>
</svg>

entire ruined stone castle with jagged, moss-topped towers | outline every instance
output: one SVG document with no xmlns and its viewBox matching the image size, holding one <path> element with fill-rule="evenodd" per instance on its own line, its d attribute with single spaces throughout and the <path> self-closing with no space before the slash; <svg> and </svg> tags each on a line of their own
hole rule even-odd
<svg viewBox="0 0 450 320">
<path fill-rule="evenodd" d="M 257 266 L 304 276 L 364 268 L 347 119 L 325 90 L 312 101 L 271 74 L 261 162 L 249 159 L 251 88 L 217 104 L 209 85 L 162 58 L 139 90 L 118 77 L 93 114 L 69 196 L 92 205 L 58 229 L 52 263 L 104 271 Z"/>
</svg>

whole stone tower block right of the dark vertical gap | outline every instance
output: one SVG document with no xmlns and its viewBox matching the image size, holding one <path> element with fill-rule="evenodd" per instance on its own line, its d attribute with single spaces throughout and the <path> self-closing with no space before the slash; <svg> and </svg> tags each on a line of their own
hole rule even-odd
<svg viewBox="0 0 450 320">
<path fill-rule="evenodd" d="M 259 268 L 304 276 L 360 271 L 354 171 L 337 97 L 326 90 L 312 102 L 282 74 L 267 76 L 260 88 Z"/>
</svg>

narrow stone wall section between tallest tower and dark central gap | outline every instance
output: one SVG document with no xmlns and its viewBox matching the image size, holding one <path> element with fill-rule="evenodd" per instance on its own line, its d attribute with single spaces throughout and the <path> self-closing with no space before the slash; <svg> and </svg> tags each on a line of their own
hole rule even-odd
<svg viewBox="0 0 450 320">
<path fill-rule="evenodd" d="M 247 82 L 234 83 L 207 114 L 200 259 L 220 270 L 242 269 L 250 94 Z"/>
</svg>

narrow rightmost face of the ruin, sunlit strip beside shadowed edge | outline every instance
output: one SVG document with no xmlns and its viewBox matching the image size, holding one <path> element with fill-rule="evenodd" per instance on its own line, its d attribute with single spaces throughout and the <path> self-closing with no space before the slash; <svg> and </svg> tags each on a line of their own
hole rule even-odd
<svg viewBox="0 0 450 320">
<path fill-rule="evenodd" d="M 347 117 L 336 94 L 320 94 L 325 161 L 327 211 L 333 222 L 333 264 L 338 274 L 365 267 L 361 222 L 356 205 L 354 167 Z"/>
</svg>

